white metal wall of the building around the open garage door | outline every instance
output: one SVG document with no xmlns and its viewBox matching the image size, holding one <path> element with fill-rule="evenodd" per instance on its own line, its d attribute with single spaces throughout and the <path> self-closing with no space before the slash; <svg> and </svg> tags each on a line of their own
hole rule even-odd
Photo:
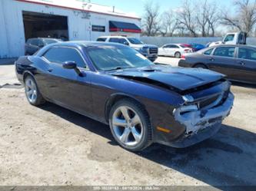
<svg viewBox="0 0 256 191">
<path fill-rule="evenodd" d="M 133 22 L 140 26 L 140 20 L 123 18 L 115 15 L 90 13 L 84 18 L 83 13 L 67 8 L 36 5 L 14 0 L 0 0 L 0 58 L 12 58 L 24 54 L 25 31 L 22 11 L 40 12 L 68 17 L 68 36 L 71 41 L 94 41 L 98 36 L 110 35 L 108 21 Z M 105 25 L 105 32 L 91 31 L 91 25 Z M 135 34 L 139 37 L 139 34 Z"/>
</svg>

